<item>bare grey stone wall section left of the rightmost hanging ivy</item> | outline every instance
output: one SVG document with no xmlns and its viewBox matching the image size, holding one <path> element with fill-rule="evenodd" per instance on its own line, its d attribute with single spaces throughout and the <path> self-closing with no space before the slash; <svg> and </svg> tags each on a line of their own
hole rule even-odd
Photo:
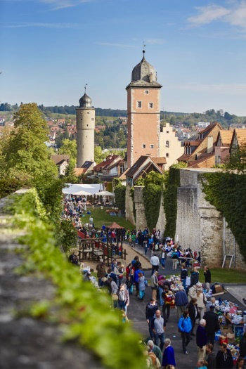
<svg viewBox="0 0 246 369">
<path fill-rule="evenodd" d="M 232 267 L 245 268 L 238 245 L 223 218 L 214 206 L 205 200 L 202 179 L 205 172 L 216 169 L 180 169 L 177 194 L 176 237 L 183 249 L 201 252 L 203 264 L 221 267 L 224 254 L 235 254 Z M 228 262 L 226 264 L 228 266 Z"/>
</svg>

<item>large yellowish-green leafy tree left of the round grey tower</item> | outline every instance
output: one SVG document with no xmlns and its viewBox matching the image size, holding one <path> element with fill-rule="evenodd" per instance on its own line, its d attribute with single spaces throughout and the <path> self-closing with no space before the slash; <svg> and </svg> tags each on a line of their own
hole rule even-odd
<svg viewBox="0 0 246 369">
<path fill-rule="evenodd" d="M 2 148 L 5 175 L 25 180 L 44 174 L 57 176 L 45 144 L 48 125 L 37 104 L 22 104 L 13 118 L 15 129 Z"/>
</svg>

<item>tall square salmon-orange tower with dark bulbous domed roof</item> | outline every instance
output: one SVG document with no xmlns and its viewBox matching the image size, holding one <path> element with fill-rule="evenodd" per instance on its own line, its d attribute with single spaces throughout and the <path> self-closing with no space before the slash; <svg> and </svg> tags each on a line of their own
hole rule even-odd
<svg viewBox="0 0 246 369">
<path fill-rule="evenodd" d="M 127 166 L 141 155 L 160 156 L 160 89 L 157 74 L 143 59 L 131 73 L 127 86 Z"/>
</svg>

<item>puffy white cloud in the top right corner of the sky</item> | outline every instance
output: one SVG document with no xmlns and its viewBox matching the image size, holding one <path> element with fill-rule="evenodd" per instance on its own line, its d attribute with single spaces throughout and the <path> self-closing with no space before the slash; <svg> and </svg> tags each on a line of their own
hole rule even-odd
<svg viewBox="0 0 246 369">
<path fill-rule="evenodd" d="M 219 20 L 246 30 L 246 0 L 233 1 L 227 7 L 212 4 L 196 9 L 198 15 L 188 18 L 191 25 L 206 25 Z"/>
</svg>

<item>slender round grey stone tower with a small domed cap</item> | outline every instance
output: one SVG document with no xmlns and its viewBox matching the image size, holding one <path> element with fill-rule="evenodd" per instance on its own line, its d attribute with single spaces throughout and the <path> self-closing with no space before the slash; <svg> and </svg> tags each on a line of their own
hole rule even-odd
<svg viewBox="0 0 246 369">
<path fill-rule="evenodd" d="M 86 161 L 94 161 L 95 109 L 91 102 L 85 91 L 76 109 L 77 168 Z"/>
</svg>

